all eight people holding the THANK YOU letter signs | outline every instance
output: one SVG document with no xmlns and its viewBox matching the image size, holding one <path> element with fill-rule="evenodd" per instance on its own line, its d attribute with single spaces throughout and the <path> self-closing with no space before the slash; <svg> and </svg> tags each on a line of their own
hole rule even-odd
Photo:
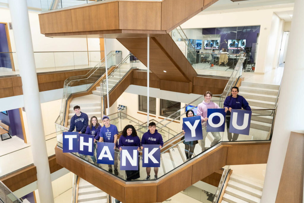
<svg viewBox="0 0 304 203">
<path fill-rule="evenodd" d="M 226 115 L 226 128 L 227 128 L 227 134 L 228 134 L 228 140 L 229 141 L 235 141 L 237 140 L 239 134 L 229 132 L 230 127 L 230 114 L 232 109 L 245 109 L 245 110 L 251 110 L 249 107 L 248 102 L 245 100 L 243 96 L 238 95 L 239 88 L 233 87 L 231 90 L 231 95 L 227 96 L 224 101 L 224 108 Z M 200 140 L 200 145 L 202 147 L 202 152 L 206 150 L 205 147 L 205 140 L 207 137 L 208 132 L 206 132 L 206 121 L 208 121 L 207 117 L 207 110 L 212 108 L 220 108 L 219 105 L 212 102 L 212 93 L 207 91 L 204 94 L 205 100 L 202 101 L 198 105 L 197 108 L 197 115 L 201 116 L 202 121 L 202 132 L 203 132 L 203 139 Z M 114 143 L 114 149 L 115 149 L 115 155 L 114 155 L 114 174 L 118 175 L 118 152 L 122 150 L 122 146 L 138 146 L 138 151 L 140 149 L 143 149 L 143 145 L 159 145 L 159 148 L 161 148 L 164 144 L 163 138 L 160 133 L 157 132 L 156 124 L 154 122 L 149 123 L 149 130 L 143 134 L 141 140 L 137 136 L 136 130 L 133 127 L 133 125 L 126 125 L 123 129 L 122 135 L 117 141 L 118 136 L 118 130 L 115 125 L 110 124 L 110 119 L 108 116 L 102 117 L 102 123 L 104 124 L 103 127 L 98 123 L 97 117 L 92 116 L 90 120 L 90 124 L 88 124 L 88 115 L 85 113 L 82 113 L 80 111 L 79 106 L 74 106 L 75 115 L 71 118 L 70 123 L 70 129 L 68 131 L 74 131 L 74 128 L 76 127 L 76 131 L 79 133 L 84 133 L 87 135 L 94 135 L 94 156 L 91 156 L 92 161 L 95 165 L 97 165 L 97 160 L 95 157 L 95 152 L 97 149 L 97 142 L 109 142 Z M 193 110 L 188 110 L 186 112 L 186 117 L 192 117 L 194 116 Z M 182 129 L 183 133 L 185 134 L 184 128 Z M 212 136 L 214 137 L 214 140 L 211 143 L 211 146 L 215 145 L 221 140 L 221 135 L 219 132 L 211 132 Z M 183 140 L 184 137 L 181 138 Z M 198 141 L 190 141 L 185 142 L 185 154 L 187 160 L 191 159 L 195 145 L 198 143 Z M 84 158 L 88 161 L 88 156 L 79 154 L 80 157 Z M 109 166 L 109 172 L 112 173 L 112 165 Z M 150 180 L 150 172 L 151 168 L 146 167 L 147 177 L 146 180 Z M 154 178 L 157 179 L 157 173 L 158 173 L 158 167 L 154 167 Z M 140 177 L 139 169 L 138 170 L 126 170 L 126 180 L 134 180 Z"/>
</svg>

